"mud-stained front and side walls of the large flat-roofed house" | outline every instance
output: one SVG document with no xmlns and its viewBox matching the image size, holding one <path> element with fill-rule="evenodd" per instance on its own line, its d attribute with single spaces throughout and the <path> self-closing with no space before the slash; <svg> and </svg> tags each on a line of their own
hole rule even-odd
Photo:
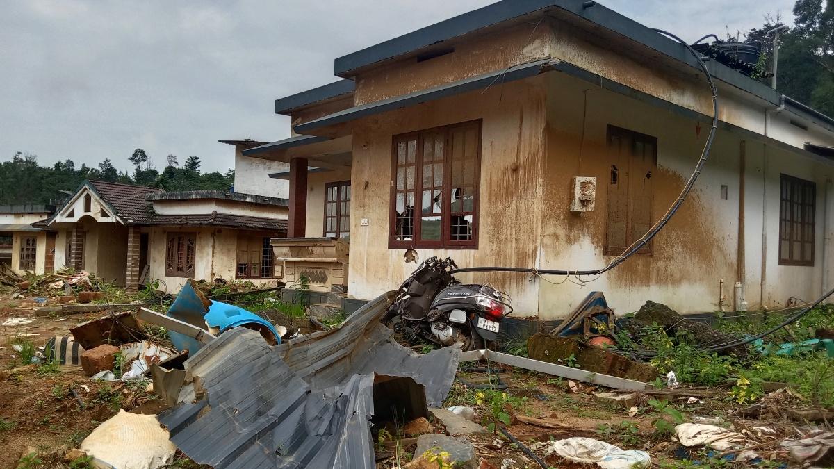
<svg viewBox="0 0 834 469">
<path fill-rule="evenodd" d="M 653 219 L 659 219 L 680 192 L 708 131 L 679 113 L 594 89 L 560 73 L 365 119 L 354 126 L 354 142 L 363 145 L 354 145 L 349 295 L 373 298 L 394 288 L 414 269 L 403 264 L 402 252 L 387 249 L 391 136 L 470 119 L 483 119 L 479 249 L 419 250 L 421 259 L 450 255 L 462 266 L 540 269 L 604 266 L 613 259 L 602 255 L 610 178 L 606 126 L 658 139 Z M 746 154 L 743 279 L 738 275 L 742 141 Z M 812 267 L 778 265 L 782 173 L 817 183 Z M 597 178 L 594 212 L 569 210 L 570 179 L 578 175 Z M 762 302 L 771 309 L 780 307 L 791 296 L 812 300 L 831 265 L 831 250 L 824 260 L 822 241 L 834 235 L 824 216 L 831 175 L 831 166 L 819 159 L 721 130 L 696 189 L 653 241 L 652 255 L 636 255 L 598 280 L 581 279 L 589 282 L 586 285 L 561 277 L 530 280 L 529 275 L 519 274 L 460 275 L 460 280 L 489 282 L 506 290 L 518 315 L 538 313 L 542 319 L 564 317 L 592 290 L 605 292 L 620 313 L 637 310 L 646 300 L 683 312 L 717 310 L 721 279 L 727 309 L 732 308 L 736 280 L 744 280 L 751 309 Z M 722 185 L 727 186 L 727 199 L 721 198 Z M 829 190 L 827 197 L 831 196 Z M 368 218 L 369 226 L 359 226 L 361 218 Z"/>
</svg>

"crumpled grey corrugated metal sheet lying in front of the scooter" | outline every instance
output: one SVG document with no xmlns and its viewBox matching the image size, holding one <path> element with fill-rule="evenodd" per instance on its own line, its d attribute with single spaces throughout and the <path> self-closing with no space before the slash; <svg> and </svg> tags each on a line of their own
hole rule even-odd
<svg viewBox="0 0 834 469">
<path fill-rule="evenodd" d="M 159 421 L 179 449 L 214 467 L 374 467 L 374 374 L 410 377 L 438 405 L 460 361 L 452 347 L 419 355 L 389 341 L 379 318 L 393 296 L 276 347 L 252 330 L 220 335 L 186 361 L 193 393 Z"/>
</svg>

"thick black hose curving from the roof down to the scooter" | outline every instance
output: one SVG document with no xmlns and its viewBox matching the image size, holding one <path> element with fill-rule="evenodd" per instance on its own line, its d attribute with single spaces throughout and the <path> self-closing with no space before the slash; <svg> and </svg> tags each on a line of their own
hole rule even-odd
<svg viewBox="0 0 834 469">
<path fill-rule="evenodd" d="M 695 165 L 695 170 L 692 172 L 689 180 L 686 181 L 684 188 L 681 190 L 681 194 L 678 195 L 678 198 L 671 204 L 671 207 L 666 210 L 666 214 L 661 217 L 660 220 L 654 224 L 651 229 L 649 229 L 645 235 L 641 237 L 640 240 L 637 240 L 631 246 L 625 249 L 622 254 L 615 257 L 614 260 L 611 260 L 608 265 L 601 269 L 591 269 L 591 270 L 551 270 L 551 269 L 544 269 L 544 270 L 537 270 L 531 269 L 526 267 L 501 267 L 501 266 L 493 266 L 493 267 L 465 267 L 463 269 L 455 269 L 452 270 L 452 274 L 457 274 L 461 272 L 525 272 L 531 274 L 544 274 L 544 275 L 600 275 L 608 270 L 614 269 L 617 265 L 622 264 L 630 258 L 632 255 L 635 255 L 638 251 L 643 249 L 652 238 L 654 238 L 658 233 L 660 233 L 661 229 L 663 229 L 669 220 L 674 216 L 678 209 L 681 208 L 681 204 L 683 204 L 684 200 L 686 200 L 686 196 L 689 195 L 692 186 L 695 185 L 695 181 L 698 179 L 698 176 L 701 175 L 701 169 L 704 168 L 704 164 L 706 164 L 706 159 L 710 156 L 710 149 L 712 147 L 712 141 L 716 138 L 716 130 L 718 129 L 718 91 L 716 89 L 716 83 L 712 81 L 712 76 L 710 74 L 709 69 L 706 68 L 706 63 L 701 60 L 701 56 L 693 49 L 689 44 L 686 43 L 681 38 L 678 38 L 676 35 L 672 33 L 667 33 L 666 31 L 662 31 L 661 29 L 655 29 L 657 33 L 664 34 L 669 38 L 675 39 L 677 42 L 681 43 L 692 56 L 698 62 L 698 65 L 701 67 L 701 71 L 704 72 L 706 75 L 706 81 L 710 85 L 710 90 L 712 93 L 712 127 L 710 129 L 710 134 L 706 139 L 706 144 L 704 144 L 704 149 L 701 152 L 701 158 L 698 159 L 698 163 Z"/>
</svg>

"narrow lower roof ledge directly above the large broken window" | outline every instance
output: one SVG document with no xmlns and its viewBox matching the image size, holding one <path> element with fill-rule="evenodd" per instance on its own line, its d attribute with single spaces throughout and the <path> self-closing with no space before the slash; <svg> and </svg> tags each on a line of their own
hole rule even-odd
<svg viewBox="0 0 834 469">
<path fill-rule="evenodd" d="M 522 78 L 530 78 L 540 73 L 550 71 L 555 65 L 560 63 L 559 60 L 552 58 L 543 58 L 535 62 L 522 63 L 514 67 L 495 70 L 494 72 L 484 73 L 471 78 L 464 78 L 451 83 L 445 83 L 440 86 L 422 89 L 413 93 L 407 93 L 393 98 L 381 99 L 373 103 L 361 104 L 353 108 L 347 108 L 342 111 L 332 113 L 323 118 L 314 119 L 303 124 L 295 126 L 295 131 L 299 134 L 318 134 L 325 128 L 330 128 L 334 125 L 344 124 L 355 119 L 361 119 L 374 114 L 385 113 L 400 108 L 414 106 L 420 103 L 428 103 L 440 98 L 447 98 L 455 94 L 467 93 L 476 89 L 489 88 L 493 84 L 500 84 L 520 80 Z M 325 129 L 324 133 L 329 133 Z"/>
</svg>

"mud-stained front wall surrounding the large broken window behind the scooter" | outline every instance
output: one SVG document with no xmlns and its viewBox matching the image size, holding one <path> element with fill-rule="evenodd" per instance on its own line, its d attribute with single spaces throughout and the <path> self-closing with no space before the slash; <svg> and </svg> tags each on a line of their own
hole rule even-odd
<svg viewBox="0 0 834 469">
<path fill-rule="evenodd" d="M 544 81 L 541 77 L 495 86 L 485 93 L 421 104 L 366 119 L 354 128 L 349 295 L 374 298 L 414 270 L 402 250 L 388 249 L 391 137 L 420 129 L 483 119 L 480 227 L 477 250 L 418 250 L 420 259 L 451 256 L 460 266 L 534 265 L 539 239 L 544 170 Z M 515 170 L 513 168 L 516 168 Z M 369 220 L 361 226 L 360 220 Z M 471 275 L 460 275 L 468 281 Z M 506 290 L 516 310 L 535 314 L 538 287 L 525 275 L 480 275 Z"/>
</svg>

